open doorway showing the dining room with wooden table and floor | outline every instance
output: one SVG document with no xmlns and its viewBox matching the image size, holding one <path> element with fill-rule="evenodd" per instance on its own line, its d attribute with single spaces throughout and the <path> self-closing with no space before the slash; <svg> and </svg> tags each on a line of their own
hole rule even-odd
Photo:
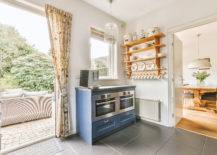
<svg viewBox="0 0 217 155">
<path fill-rule="evenodd" d="M 217 22 L 174 34 L 175 124 L 217 138 Z"/>
</svg>

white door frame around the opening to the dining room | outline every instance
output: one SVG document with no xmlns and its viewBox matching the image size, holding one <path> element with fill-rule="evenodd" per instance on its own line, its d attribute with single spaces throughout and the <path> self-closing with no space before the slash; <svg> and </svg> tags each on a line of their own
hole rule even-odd
<svg viewBox="0 0 217 155">
<path fill-rule="evenodd" d="M 174 34 L 190 28 L 202 26 L 217 21 L 217 13 L 205 18 L 190 21 L 167 29 L 167 50 L 168 50 L 168 112 L 169 126 L 175 127 L 175 85 L 174 85 Z"/>
</svg>

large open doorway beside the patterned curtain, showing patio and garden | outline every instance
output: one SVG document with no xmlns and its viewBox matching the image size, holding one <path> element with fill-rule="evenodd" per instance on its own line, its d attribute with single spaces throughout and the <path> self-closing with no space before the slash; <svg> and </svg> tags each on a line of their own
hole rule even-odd
<svg viewBox="0 0 217 155">
<path fill-rule="evenodd" d="M 0 3 L 1 152 L 55 136 L 46 17 Z"/>
</svg>

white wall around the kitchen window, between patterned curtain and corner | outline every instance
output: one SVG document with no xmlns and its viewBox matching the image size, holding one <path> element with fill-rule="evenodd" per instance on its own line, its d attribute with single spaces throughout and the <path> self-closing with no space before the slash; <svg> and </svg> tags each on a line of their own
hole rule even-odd
<svg viewBox="0 0 217 155">
<path fill-rule="evenodd" d="M 81 0 L 28 0 L 38 6 L 44 6 L 46 3 L 56 6 L 57 8 L 71 12 L 73 14 L 72 22 L 72 38 L 71 38 L 71 52 L 70 52 L 70 71 L 69 71 L 69 88 L 70 88 L 70 103 L 73 122 L 73 132 L 76 129 L 76 115 L 75 115 L 75 87 L 78 86 L 78 78 L 81 69 L 88 69 L 90 67 L 90 27 L 104 29 L 104 25 L 113 21 L 119 26 L 120 37 L 123 35 L 123 22 L 113 18 L 112 16 L 90 6 Z M 40 32 L 40 30 L 39 30 Z M 119 80 L 100 81 L 101 84 L 117 84 L 124 83 L 123 72 L 121 65 L 121 54 L 118 49 L 118 76 Z M 121 79 L 121 80 L 120 80 Z"/>
</svg>

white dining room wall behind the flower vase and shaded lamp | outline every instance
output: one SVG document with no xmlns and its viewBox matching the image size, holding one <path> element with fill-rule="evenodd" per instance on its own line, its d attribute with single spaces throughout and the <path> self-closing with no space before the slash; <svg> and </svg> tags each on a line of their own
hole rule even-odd
<svg viewBox="0 0 217 155">
<path fill-rule="evenodd" d="M 216 35 L 204 34 L 200 39 L 200 57 L 210 57 L 212 65 L 211 69 L 208 70 L 210 76 L 205 81 L 207 85 L 217 85 L 217 32 L 214 33 Z M 197 41 L 195 38 L 191 39 L 194 41 L 192 44 L 183 40 L 183 78 L 185 83 L 196 84 L 195 78 L 192 77 L 194 70 L 187 68 L 187 65 L 197 57 Z"/>
</svg>

